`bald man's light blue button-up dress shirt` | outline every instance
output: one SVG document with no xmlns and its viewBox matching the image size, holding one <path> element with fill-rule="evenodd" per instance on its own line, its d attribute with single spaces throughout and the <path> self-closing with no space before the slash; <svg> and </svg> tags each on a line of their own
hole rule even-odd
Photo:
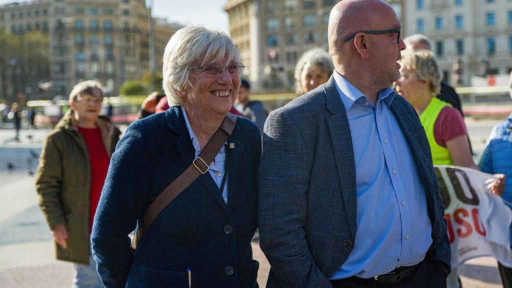
<svg viewBox="0 0 512 288">
<path fill-rule="evenodd" d="M 354 147 L 357 228 L 349 257 L 331 279 L 370 278 L 423 260 L 432 224 L 414 157 L 390 110 L 395 94 L 378 93 L 377 105 L 336 71 Z"/>
</svg>

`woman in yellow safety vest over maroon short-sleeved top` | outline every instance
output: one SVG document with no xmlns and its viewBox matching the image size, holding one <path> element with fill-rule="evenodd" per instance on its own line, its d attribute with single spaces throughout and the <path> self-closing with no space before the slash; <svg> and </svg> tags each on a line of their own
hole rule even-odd
<svg viewBox="0 0 512 288">
<path fill-rule="evenodd" d="M 460 112 L 436 97 L 441 74 L 434 55 L 426 50 L 411 52 L 400 61 L 396 92 L 406 98 L 419 115 L 432 150 L 434 164 L 478 169 L 473 161 L 467 130 Z"/>
</svg>

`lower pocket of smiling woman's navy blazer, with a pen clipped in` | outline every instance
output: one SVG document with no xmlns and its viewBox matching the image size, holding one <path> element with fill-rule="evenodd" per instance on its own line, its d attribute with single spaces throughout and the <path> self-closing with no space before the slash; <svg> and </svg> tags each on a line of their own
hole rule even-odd
<svg viewBox="0 0 512 288">
<path fill-rule="evenodd" d="M 190 273 L 192 287 L 197 287 L 197 272 Z M 187 271 L 164 271 L 142 268 L 142 285 L 147 288 L 188 287 Z"/>
</svg>

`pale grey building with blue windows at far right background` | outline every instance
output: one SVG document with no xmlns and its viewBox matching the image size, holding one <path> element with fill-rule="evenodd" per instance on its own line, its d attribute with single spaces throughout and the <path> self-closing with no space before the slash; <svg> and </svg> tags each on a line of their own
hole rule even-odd
<svg viewBox="0 0 512 288">
<path fill-rule="evenodd" d="M 429 36 L 448 83 L 472 86 L 474 76 L 512 70 L 512 0 L 410 0 L 402 8 L 405 35 Z"/>
</svg>

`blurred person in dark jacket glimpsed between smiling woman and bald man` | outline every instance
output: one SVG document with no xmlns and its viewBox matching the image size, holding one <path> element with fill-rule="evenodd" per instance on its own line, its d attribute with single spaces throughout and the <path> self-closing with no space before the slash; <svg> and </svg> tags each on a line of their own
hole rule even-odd
<svg viewBox="0 0 512 288">
<path fill-rule="evenodd" d="M 251 86 L 245 79 L 240 81 L 240 89 L 238 90 L 238 110 L 245 114 L 245 116 L 251 119 L 263 135 L 263 127 L 265 126 L 265 120 L 267 120 L 268 112 L 263 106 L 263 103 L 258 100 L 250 99 Z"/>
</svg>

